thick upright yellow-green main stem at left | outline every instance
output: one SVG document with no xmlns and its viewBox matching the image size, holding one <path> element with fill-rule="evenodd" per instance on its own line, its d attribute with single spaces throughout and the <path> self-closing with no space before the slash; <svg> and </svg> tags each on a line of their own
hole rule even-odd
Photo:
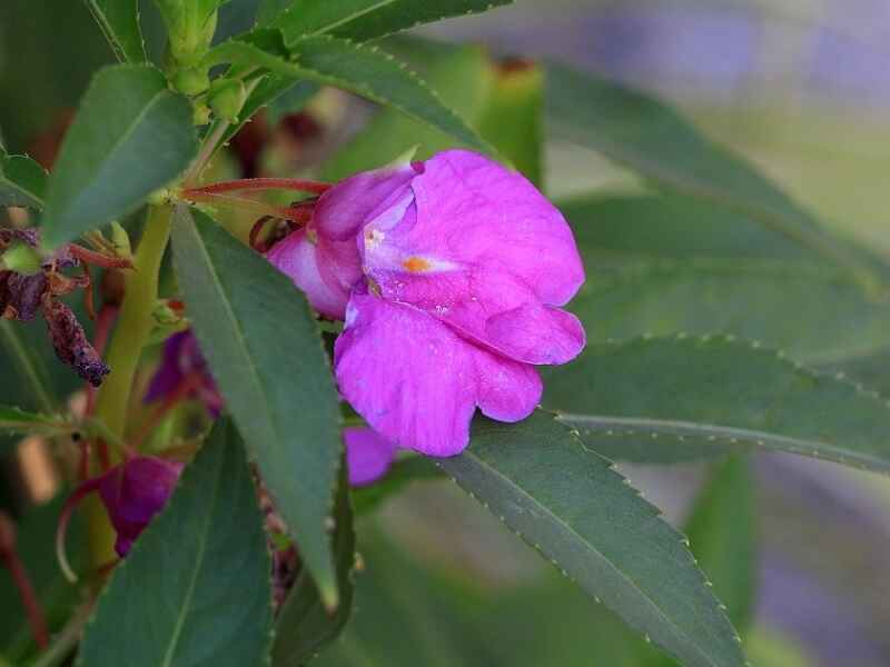
<svg viewBox="0 0 890 667">
<path fill-rule="evenodd" d="M 142 348 L 151 334 L 151 312 L 158 297 L 158 272 L 170 237 L 172 208 L 152 206 L 148 210 L 142 239 L 136 251 L 136 270 L 126 278 L 126 291 L 106 359 L 111 367 L 96 398 L 96 418 L 118 440 L 125 439 L 127 407 Z M 101 444 L 100 444 L 101 445 Z M 115 454 L 120 458 L 120 452 Z M 95 567 L 113 558 L 113 534 L 99 502 L 88 502 L 90 555 Z"/>
</svg>

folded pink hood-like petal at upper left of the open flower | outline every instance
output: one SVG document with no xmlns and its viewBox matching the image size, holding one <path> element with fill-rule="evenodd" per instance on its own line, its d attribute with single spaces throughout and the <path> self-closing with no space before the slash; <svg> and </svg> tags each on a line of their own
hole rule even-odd
<svg viewBox="0 0 890 667">
<path fill-rule="evenodd" d="M 313 213 L 313 226 L 327 240 L 353 240 L 358 230 L 387 201 L 407 189 L 417 171 L 411 165 L 363 171 L 322 195 Z"/>
</svg>

